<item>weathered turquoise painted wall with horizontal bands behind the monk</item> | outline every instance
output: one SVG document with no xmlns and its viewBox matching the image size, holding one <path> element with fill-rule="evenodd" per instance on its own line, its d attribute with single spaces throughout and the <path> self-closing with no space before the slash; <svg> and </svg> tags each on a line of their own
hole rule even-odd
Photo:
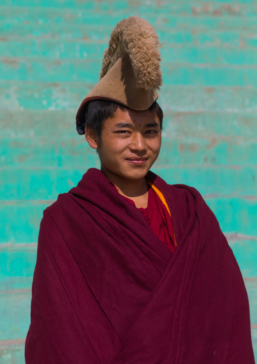
<svg viewBox="0 0 257 364">
<path fill-rule="evenodd" d="M 0 362 L 24 363 L 42 211 L 97 155 L 75 130 L 114 25 L 140 15 L 163 43 L 162 152 L 153 169 L 197 188 L 247 287 L 257 354 L 257 2 L 1 0 Z"/>
</svg>

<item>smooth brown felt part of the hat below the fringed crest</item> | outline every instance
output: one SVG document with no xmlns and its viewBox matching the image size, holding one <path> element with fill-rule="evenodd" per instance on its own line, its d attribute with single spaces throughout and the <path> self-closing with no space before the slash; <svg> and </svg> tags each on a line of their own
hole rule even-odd
<svg viewBox="0 0 257 364">
<path fill-rule="evenodd" d="M 112 66 L 93 90 L 85 96 L 76 115 L 77 131 L 84 134 L 85 105 L 94 100 L 109 100 L 137 111 L 147 110 L 158 98 L 156 89 L 137 87 L 137 79 L 131 59 L 127 53 Z"/>
</svg>

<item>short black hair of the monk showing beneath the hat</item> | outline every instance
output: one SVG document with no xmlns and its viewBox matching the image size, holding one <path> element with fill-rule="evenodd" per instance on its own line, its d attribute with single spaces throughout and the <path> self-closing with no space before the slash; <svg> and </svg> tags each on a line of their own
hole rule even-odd
<svg viewBox="0 0 257 364">
<path fill-rule="evenodd" d="M 119 105 L 115 102 L 106 100 L 91 101 L 87 105 L 85 110 L 85 125 L 84 127 L 90 128 L 95 131 L 97 136 L 101 138 L 103 123 L 106 119 L 111 118 L 117 108 L 121 111 L 126 111 L 125 106 Z M 162 129 L 163 113 L 160 105 L 154 101 L 154 103 L 148 108 L 149 111 L 155 112 L 160 120 L 160 128 Z"/>
</svg>

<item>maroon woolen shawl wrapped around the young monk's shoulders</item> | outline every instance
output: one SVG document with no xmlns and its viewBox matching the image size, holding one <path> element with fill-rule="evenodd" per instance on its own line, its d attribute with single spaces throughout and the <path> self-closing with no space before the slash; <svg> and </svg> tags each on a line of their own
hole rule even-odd
<svg viewBox="0 0 257 364">
<path fill-rule="evenodd" d="M 253 364 L 239 267 L 197 190 L 167 185 L 172 253 L 141 211 L 89 169 L 44 211 L 27 364 Z"/>
</svg>

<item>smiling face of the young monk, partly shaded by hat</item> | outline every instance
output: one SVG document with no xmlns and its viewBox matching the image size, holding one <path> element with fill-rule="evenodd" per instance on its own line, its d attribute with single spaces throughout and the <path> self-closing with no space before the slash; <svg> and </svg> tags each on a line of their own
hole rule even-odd
<svg viewBox="0 0 257 364">
<path fill-rule="evenodd" d="M 156 161 L 161 146 L 160 121 L 154 112 L 117 108 L 105 120 L 97 142 L 101 170 L 123 178 L 143 178 Z"/>
</svg>

